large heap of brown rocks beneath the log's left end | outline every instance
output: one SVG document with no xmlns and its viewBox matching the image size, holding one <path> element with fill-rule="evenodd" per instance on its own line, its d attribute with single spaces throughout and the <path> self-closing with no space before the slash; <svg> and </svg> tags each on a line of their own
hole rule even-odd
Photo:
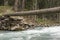
<svg viewBox="0 0 60 40">
<path fill-rule="evenodd" d="M 26 30 L 33 27 L 33 24 L 28 24 L 23 18 L 12 18 L 9 16 L 0 17 L 0 30 Z"/>
</svg>

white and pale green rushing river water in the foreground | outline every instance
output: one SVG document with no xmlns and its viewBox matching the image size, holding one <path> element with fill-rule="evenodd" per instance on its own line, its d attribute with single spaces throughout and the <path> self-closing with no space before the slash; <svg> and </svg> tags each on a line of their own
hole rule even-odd
<svg viewBox="0 0 60 40">
<path fill-rule="evenodd" d="M 60 40 L 60 26 L 25 31 L 0 31 L 0 40 Z"/>
</svg>

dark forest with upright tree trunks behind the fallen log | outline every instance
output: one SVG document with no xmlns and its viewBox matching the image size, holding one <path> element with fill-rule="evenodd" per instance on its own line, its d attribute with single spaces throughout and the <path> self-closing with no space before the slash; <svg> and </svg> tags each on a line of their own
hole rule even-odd
<svg viewBox="0 0 60 40">
<path fill-rule="evenodd" d="M 10 6 L 15 11 L 36 10 L 60 6 L 59 0 L 1 0 L 0 6 Z"/>
</svg>

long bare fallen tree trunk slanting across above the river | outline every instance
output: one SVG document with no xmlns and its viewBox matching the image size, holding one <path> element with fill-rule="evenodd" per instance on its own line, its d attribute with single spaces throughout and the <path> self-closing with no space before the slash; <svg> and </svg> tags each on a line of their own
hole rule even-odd
<svg viewBox="0 0 60 40">
<path fill-rule="evenodd" d="M 36 15 L 41 13 L 59 13 L 59 12 L 60 12 L 60 7 L 54 7 L 54 8 L 40 9 L 40 10 L 15 12 L 11 14 L 4 14 L 4 16 L 24 16 L 24 15 Z"/>
</svg>

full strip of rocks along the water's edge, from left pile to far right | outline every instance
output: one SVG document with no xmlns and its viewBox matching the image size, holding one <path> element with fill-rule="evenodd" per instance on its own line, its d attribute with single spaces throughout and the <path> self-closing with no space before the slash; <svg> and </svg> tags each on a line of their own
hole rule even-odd
<svg viewBox="0 0 60 40">
<path fill-rule="evenodd" d="M 24 20 L 24 18 L 14 18 L 10 16 L 2 16 L 0 17 L 0 30 L 8 30 L 8 31 L 18 31 L 18 30 L 26 30 L 34 27 L 49 27 L 49 26 L 59 26 L 59 24 L 33 24 L 28 23 Z"/>
</svg>

